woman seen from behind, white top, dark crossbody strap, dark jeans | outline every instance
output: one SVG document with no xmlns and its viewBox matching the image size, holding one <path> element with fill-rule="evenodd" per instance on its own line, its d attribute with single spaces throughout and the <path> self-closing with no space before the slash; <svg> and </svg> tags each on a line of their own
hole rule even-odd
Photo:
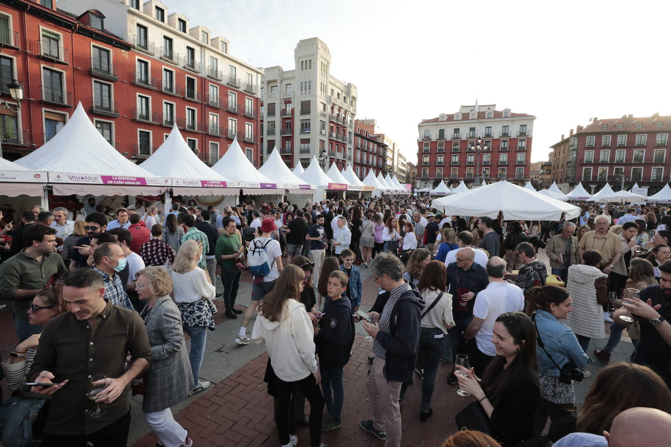
<svg viewBox="0 0 671 447">
<path fill-rule="evenodd" d="M 446 346 L 448 329 L 454 326 L 452 318 L 452 295 L 445 292 L 446 267 L 440 261 L 430 261 L 419 279 L 419 293 L 425 302 L 421 313 L 419 332 L 419 359 L 423 365 L 417 365 L 417 373 L 422 375 L 421 405 L 419 419 L 426 422 L 433 410 L 431 396 L 435 385 L 435 371 Z"/>
</svg>

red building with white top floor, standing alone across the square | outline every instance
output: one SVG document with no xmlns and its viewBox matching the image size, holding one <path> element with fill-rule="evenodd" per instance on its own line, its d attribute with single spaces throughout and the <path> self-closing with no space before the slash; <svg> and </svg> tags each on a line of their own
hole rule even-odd
<svg viewBox="0 0 671 447">
<path fill-rule="evenodd" d="M 536 117 L 496 110 L 496 105 L 462 105 L 457 113 L 419 123 L 417 187 L 442 180 L 466 184 L 508 180 L 524 186 L 530 178 L 533 121 Z M 478 149 L 476 143 L 481 140 Z"/>
</svg>

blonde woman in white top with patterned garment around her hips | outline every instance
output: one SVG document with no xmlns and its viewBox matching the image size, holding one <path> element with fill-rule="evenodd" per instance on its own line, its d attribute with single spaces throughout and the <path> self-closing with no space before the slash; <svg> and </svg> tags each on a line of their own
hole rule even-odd
<svg viewBox="0 0 671 447">
<path fill-rule="evenodd" d="M 172 286 L 174 302 L 182 314 L 184 330 L 191 336 L 189 362 L 193 373 L 191 393 L 199 393 L 209 387 L 209 381 L 201 381 L 201 363 L 205 355 L 207 329 L 215 330 L 214 314 L 217 312 L 212 299 L 217 289 L 212 285 L 207 271 L 198 267 L 203 246 L 189 239 L 182 244 L 172 264 Z"/>
</svg>

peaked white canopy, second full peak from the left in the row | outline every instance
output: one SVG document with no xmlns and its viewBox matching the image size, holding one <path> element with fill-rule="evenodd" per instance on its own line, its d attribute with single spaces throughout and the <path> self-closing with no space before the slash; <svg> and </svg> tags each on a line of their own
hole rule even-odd
<svg viewBox="0 0 671 447">
<path fill-rule="evenodd" d="M 231 149 L 233 149 L 232 146 Z M 225 182 L 228 180 L 221 174 L 211 170 L 198 158 L 198 155 L 193 153 L 176 125 L 172 126 L 170 135 L 168 135 L 158 149 L 140 164 L 140 168 L 146 169 L 148 172 L 154 174 L 154 176 L 164 178 L 198 181 L 209 180 L 211 182 Z"/>
</svg>

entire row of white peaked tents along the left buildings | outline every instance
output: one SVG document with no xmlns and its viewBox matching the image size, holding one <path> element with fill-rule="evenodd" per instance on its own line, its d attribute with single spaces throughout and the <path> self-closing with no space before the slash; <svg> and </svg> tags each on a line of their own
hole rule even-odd
<svg viewBox="0 0 671 447">
<path fill-rule="evenodd" d="M 0 158 L 3 195 L 42 196 L 40 184 L 50 183 L 56 195 L 69 194 L 313 194 L 315 189 L 406 193 L 396 176 L 360 181 L 352 166 L 342 172 L 335 164 L 324 173 L 316 157 L 303 172 L 291 172 L 274 148 L 258 170 L 234 140 L 231 150 L 209 168 L 187 145 L 177 127 L 141 164 L 126 159 L 97 131 L 81 103 L 52 139 L 16 162 Z"/>
</svg>

